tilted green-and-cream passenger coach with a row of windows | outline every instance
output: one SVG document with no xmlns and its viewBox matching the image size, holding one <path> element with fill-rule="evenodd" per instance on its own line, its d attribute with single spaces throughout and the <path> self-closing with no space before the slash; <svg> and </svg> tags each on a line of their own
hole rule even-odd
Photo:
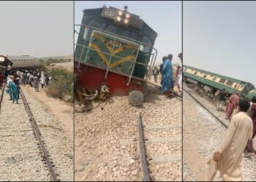
<svg viewBox="0 0 256 182">
<path fill-rule="evenodd" d="M 241 98 L 247 98 L 247 94 L 251 90 L 255 90 L 255 86 L 249 82 L 214 74 L 208 71 L 193 68 L 191 66 L 184 66 L 183 75 L 185 81 L 198 83 L 202 87 L 207 86 L 211 89 L 212 93 L 216 92 L 217 90 L 225 89 L 229 95 L 238 91 Z"/>
</svg>

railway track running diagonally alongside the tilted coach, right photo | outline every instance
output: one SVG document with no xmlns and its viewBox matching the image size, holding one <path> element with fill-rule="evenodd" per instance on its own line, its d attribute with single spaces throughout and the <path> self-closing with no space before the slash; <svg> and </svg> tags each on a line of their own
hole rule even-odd
<svg viewBox="0 0 256 182">
<path fill-rule="evenodd" d="M 215 119 L 217 119 L 218 122 L 220 122 L 225 128 L 228 127 L 228 122 L 223 121 L 223 119 L 220 119 L 219 116 L 217 116 L 217 114 L 214 114 L 213 111 L 211 111 L 209 108 L 206 107 L 206 103 L 203 103 L 201 100 L 199 100 L 197 97 L 200 95 L 193 95 L 192 92 L 189 92 L 189 90 L 187 90 L 186 88 L 183 88 L 184 92 L 186 92 L 191 98 L 193 98 L 200 106 L 202 106 L 206 111 L 208 111 L 209 114 L 211 114 L 211 116 L 214 116 Z M 208 103 L 214 105 L 213 103 L 209 102 L 209 100 L 207 100 Z M 214 108 L 216 105 L 214 105 Z M 223 111 L 222 111 L 223 113 Z"/>
</svg>

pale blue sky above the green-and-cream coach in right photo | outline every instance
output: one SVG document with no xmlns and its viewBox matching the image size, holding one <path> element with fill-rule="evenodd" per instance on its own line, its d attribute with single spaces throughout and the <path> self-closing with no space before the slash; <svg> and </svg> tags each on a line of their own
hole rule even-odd
<svg viewBox="0 0 256 182">
<path fill-rule="evenodd" d="M 184 1 L 184 65 L 256 87 L 256 1 Z"/>
</svg>

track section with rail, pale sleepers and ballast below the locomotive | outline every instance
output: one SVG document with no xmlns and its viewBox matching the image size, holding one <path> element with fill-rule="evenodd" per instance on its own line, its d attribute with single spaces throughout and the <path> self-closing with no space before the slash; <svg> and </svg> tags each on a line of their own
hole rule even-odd
<svg viewBox="0 0 256 182">
<path fill-rule="evenodd" d="M 154 132 L 152 132 L 154 130 Z M 181 162 L 181 135 L 176 136 L 172 135 L 171 137 L 164 136 L 159 137 L 157 132 L 162 132 L 162 130 L 181 130 L 181 126 L 171 126 L 171 125 L 162 125 L 162 126 L 152 126 L 143 124 L 142 117 L 139 114 L 138 116 L 138 155 L 140 159 L 140 171 L 142 174 L 143 181 L 159 181 L 157 179 L 157 172 L 159 168 L 167 165 L 178 165 Z M 157 131 L 157 132 L 156 132 Z M 153 135 L 149 135 L 148 132 L 152 132 Z M 181 133 L 180 133 L 181 134 Z M 157 151 L 164 149 L 162 154 L 161 152 L 156 154 L 156 149 L 152 148 L 150 145 L 157 144 Z M 151 151 L 153 149 L 153 151 Z M 159 165 L 156 170 L 154 165 Z M 181 164 L 180 164 L 181 167 Z M 169 172 L 171 169 L 169 170 Z M 180 171 L 181 173 L 181 171 Z M 165 178 L 167 181 L 181 181 L 178 176 L 167 175 Z"/>
</svg>

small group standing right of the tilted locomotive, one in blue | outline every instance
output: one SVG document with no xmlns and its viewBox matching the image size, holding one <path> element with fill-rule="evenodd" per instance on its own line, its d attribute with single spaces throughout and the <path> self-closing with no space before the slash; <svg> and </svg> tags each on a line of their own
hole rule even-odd
<svg viewBox="0 0 256 182">
<path fill-rule="evenodd" d="M 182 53 L 178 54 L 178 58 L 181 59 L 181 63 L 178 63 L 177 71 L 176 71 L 176 81 L 173 80 L 173 55 L 167 55 L 162 58 L 162 64 L 158 69 L 157 66 L 153 69 L 154 82 L 157 82 L 158 74 L 162 74 L 161 85 L 162 92 L 164 92 L 166 97 L 170 97 L 173 92 L 173 88 L 175 85 L 178 87 L 178 93 L 182 92 Z"/>
</svg>

